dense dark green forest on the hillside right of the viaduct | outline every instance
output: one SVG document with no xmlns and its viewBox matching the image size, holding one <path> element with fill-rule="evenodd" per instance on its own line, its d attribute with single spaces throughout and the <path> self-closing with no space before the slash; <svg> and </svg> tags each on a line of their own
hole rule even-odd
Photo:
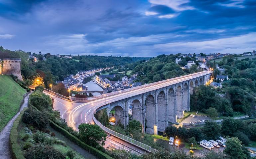
<svg viewBox="0 0 256 159">
<path fill-rule="evenodd" d="M 236 60 L 233 56 L 227 56 L 218 65 L 225 68 L 225 75 L 228 75 L 229 79 L 222 82 L 222 89 L 214 89 L 211 86 L 198 87 L 191 96 L 191 108 L 205 112 L 211 107 L 224 116 L 232 116 L 236 112 L 255 115 L 256 59 Z M 210 67 L 214 68 L 213 76 L 221 74 L 215 62 L 210 63 Z M 218 94 L 225 95 L 220 97 Z"/>
</svg>

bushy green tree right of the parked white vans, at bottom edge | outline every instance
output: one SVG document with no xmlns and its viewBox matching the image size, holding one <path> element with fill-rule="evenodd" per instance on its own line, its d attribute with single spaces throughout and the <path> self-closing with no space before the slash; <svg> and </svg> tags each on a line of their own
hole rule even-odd
<svg viewBox="0 0 256 159">
<path fill-rule="evenodd" d="M 247 158 L 246 152 L 242 149 L 241 141 L 238 138 L 230 138 L 226 141 L 226 148 L 224 151 L 232 157 L 232 159 Z"/>
</svg>

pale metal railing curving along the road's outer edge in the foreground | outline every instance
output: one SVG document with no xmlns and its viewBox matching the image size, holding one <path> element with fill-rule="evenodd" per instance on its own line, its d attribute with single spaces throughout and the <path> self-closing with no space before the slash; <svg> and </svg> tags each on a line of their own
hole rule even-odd
<svg viewBox="0 0 256 159">
<path fill-rule="evenodd" d="M 144 144 L 144 143 L 142 143 L 142 142 L 139 142 L 139 141 L 137 141 L 137 140 L 135 140 L 135 139 L 129 138 L 129 137 L 127 137 L 127 136 L 125 136 L 125 135 L 122 135 L 122 134 L 120 134 L 120 133 L 114 132 L 113 130 L 111 130 L 111 129 L 105 127 L 105 126 L 103 126 L 103 125 L 94 117 L 94 115 L 92 115 L 92 116 L 93 116 L 92 118 L 93 118 L 94 123 L 95 123 L 96 125 L 98 125 L 101 129 L 103 129 L 105 132 L 111 134 L 112 136 L 115 136 L 115 137 L 117 137 L 117 138 L 119 138 L 119 139 L 122 139 L 122 140 L 124 140 L 124 141 L 126 141 L 126 142 L 129 142 L 129 143 L 131 143 L 131 144 L 133 144 L 133 145 L 136 145 L 136 146 L 138 146 L 138 147 L 140 147 L 140 148 L 142 148 L 142 149 L 144 149 L 144 150 L 147 150 L 147 151 L 149 151 L 149 152 L 151 152 L 151 151 L 153 150 L 153 148 L 151 148 L 151 146 L 149 146 L 149 145 L 146 145 L 146 144 Z"/>
</svg>

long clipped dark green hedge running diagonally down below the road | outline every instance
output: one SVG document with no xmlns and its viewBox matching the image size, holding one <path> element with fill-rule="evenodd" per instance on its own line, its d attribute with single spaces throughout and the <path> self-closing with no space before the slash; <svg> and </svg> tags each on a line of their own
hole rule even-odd
<svg viewBox="0 0 256 159">
<path fill-rule="evenodd" d="M 34 105 L 29 104 L 31 107 L 37 109 Z M 37 109 L 38 110 L 38 109 Z M 87 145 L 86 143 L 82 142 L 80 139 L 78 139 L 77 137 L 75 137 L 74 135 L 70 134 L 68 131 L 66 131 L 65 129 L 63 129 L 62 127 L 60 127 L 59 125 L 57 125 L 55 122 L 53 122 L 51 119 L 49 119 L 49 123 L 50 126 L 52 128 L 54 128 L 56 131 L 60 132 L 63 136 L 65 136 L 67 139 L 69 139 L 70 141 L 74 142 L 75 144 L 77 144 L 78 146 L 82 147 L 83 149 L 85 149 L 86 151 L 88 151 L 89 153 L 95 155 L 96 157 L 98 157 L 99 159 L 114 159 L 112 157 L 110 157 L 109 155 L 105 154 L 104 152 L 101 152 L 100 150 Z"/>
</svg>

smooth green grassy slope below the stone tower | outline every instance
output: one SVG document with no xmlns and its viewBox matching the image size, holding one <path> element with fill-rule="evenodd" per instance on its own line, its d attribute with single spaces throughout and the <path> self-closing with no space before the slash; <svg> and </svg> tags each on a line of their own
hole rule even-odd
<svg viewBox="0 0 256 159">
<path fill-rule="evenodd" d="M 0 75 L 0 131 L 18 112 L 25 93 L 10 76 Z"/>
</svg>

